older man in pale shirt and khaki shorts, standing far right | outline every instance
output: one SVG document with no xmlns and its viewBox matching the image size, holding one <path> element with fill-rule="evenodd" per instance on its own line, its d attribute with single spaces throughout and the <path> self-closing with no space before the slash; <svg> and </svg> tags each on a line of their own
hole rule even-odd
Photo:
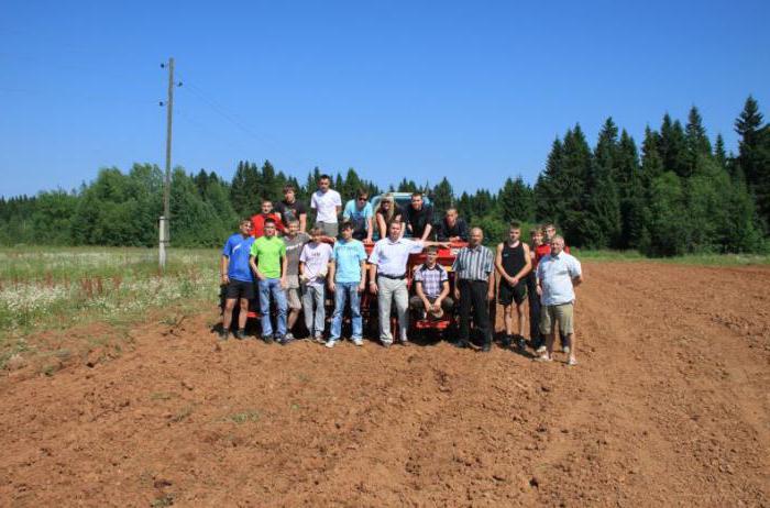
<svg viewBox="0 0 770 508">
<path fill-rule="evenodd" d="M 564 252 L 564 239 L 556 235 L 551 239 L 551 253 L 538 263 L 537 291 L 540 295 L 540 333 L 547 338 L 546 352 L 538 358 L 550 362 L 556 340 L 556 322 L 559 330 L 571 345 L 568 365 L 578 365 L 575 360 L 575 335 L 573 328 L 574 286 L 583 281 L 580 262 Z"/>
</svg>

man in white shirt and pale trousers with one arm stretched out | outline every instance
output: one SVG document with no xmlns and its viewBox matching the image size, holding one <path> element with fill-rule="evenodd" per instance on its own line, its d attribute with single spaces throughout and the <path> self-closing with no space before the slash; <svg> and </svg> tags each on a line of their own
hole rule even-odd
<svg viewBox="0 0 770 508">
<path fill-rule="evenodd" d="M 446 243 L 422 242 L 402 238 L 402 222 L 391 223 L 387 238 L 374 244 L 369 256 L 370 289 L 377 295 L 380 318 L 380 342 L 384 347 L 393 344 L 391 333 L 391 303 L 395 299 L 398 314 L 398 338 L 403 345 L 409 345 L 409 290 L 406 286 L 409 254 L 419 254 L 429 245 L 448 246 Z"/>
</svg>

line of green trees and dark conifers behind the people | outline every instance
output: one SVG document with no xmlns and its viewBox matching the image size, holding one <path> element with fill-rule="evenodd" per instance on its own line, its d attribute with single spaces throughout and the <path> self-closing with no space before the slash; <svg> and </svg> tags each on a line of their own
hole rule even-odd
<svg viewBox="0 0 770 508">
<path fill-rule="evenodd" d="M 608 118 L 593 148 L 580 124 L 557 137 L 535 186 L 510 176 L 496 192 L 458 196 L 446 177 L 435 185 L 404 178 L 387 190 L 422 191 L 437 216 L 454 207 L 495 241 L 512 220 L 553 221 L 581 247 L 636 249 L 650 256 L 760 252 L 770 224 L 770 125 L 752 97 L 735 130 L 738 154 L 727 154 L 721 135 L 712 144 L 692 107 L 684 125 L 666 114 L 658 130 L 647 128 L 639 150 Z M 282 199 L 287 184 L 309 202 L 320 175 L 316 167 L 300 183 L 270 161 L 239 162 L 231 181 L 177 167 L 172 244 L 219 246 L 240 217 L 258 211 L 262 199 Z M 332 179 L 343 199 L 359 188 L 370 196 L 383 191 L 353 168 Z M 134 164 L 128 173 L 103 168 L 77 190 L 0 198 L 0 244 L 153 246 L 162 211 L 163 174 L 156 165 Z"/>
</svg>

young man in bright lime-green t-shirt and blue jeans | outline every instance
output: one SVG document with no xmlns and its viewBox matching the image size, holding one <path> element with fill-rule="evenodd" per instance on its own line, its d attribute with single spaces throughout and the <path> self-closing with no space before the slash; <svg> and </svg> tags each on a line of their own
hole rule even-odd
<svg viewBox="0 0 770 508">
<path fill-rule="evenodd" d="M 278 307 L 278 325 L 275 339 L 284 344 L 286 341 L 286 244 L 275 235 L 275 221 L 265 220 L 265 235 L 260 236 L 251 246 L 249 264 L 256 275 L 260 288 L 260 308 L 262 309 L 262 340 L 273 342 L 273 324 L 270 319 L 270 297 L 273 295 Z"/>
</svg>

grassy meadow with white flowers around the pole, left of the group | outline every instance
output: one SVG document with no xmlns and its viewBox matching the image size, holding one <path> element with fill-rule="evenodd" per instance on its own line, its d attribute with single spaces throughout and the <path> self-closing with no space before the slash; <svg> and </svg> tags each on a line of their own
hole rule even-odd
<svg viewBox="0 0 770 508">
<path fill-rule="evenodd" d="M 117 331 L 158 308 L 195 309 L 217 301 L 219 252 L 117 247 L 0 249 L 0 367 L 41 331 L 107 322 Z"/>
</svg>

